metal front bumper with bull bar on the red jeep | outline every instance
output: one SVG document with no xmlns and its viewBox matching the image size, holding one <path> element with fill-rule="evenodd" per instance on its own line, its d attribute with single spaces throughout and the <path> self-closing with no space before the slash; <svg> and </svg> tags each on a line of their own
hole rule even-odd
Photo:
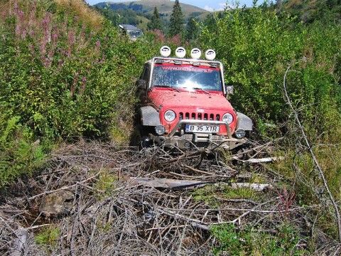
<svg viewBox="0 0 341 256">
<path fill-rule="evenodd" d="M 185 124 L 200 125 L 224 125 L 227 129 L 227 136 L 220 134 L 204 133 L 185 133 L 183 132 Z M 156 144 L 164 146 L 177 147 L 178 149 L 207 148 L 215 149 L 222 147 L 224 149 L 234 149 L 235 147 L 247 142 L 247 139 L 235 139 L 232 137 L 229 124 L 222 121 L 184 119 L 180 120 L 175 128 L 165 136 L 151 135 Z"/>
</svg>

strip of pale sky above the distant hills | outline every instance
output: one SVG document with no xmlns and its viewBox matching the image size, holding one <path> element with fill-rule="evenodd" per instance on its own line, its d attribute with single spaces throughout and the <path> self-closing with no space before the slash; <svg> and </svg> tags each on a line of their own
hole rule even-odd
<svg viewBox="0 0 341 256">
<path fill-rule="evenodd" d="M 97 4 L 100 2 L 103 2 L 105 0 L 86 0 L 88 4 Z M 115 2 L 122 2 L 122 1 L 131 1 L 131 0 L 117 0 Z M 228 1 L 229 6 L 233 6 L 231 4 L 232 1 Z M 227 1 L 224 0 L 180 0 L 180 3 L 183 4 L 192 4 L 194 6 L 198 6 L 202 9 L 205 9 L 207 11 L 219 11 L 224 9 L 224 6 L 226 6 Z M 246 4 L 247 6 L 252 5 L 252 0 L 239 0 L 239 6 L 242 6 Z"/>
</svg>

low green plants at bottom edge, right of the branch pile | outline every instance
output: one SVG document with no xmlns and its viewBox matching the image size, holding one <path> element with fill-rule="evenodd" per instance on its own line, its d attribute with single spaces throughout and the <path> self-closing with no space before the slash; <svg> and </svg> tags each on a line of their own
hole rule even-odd
<svg viewBox="0 0 341 256">
<path fill-rule="evenodd" d="M 307 255 L 298 247 L 299 234 L 290 225 L 280 225 L 278 233 L 271 235 L 254 228 L 246 227 L 236 230 L 234 225 L 215 225 L 211 227 L 212 235 L 217 238 L 219 246 L 213 252 L 220 255 Z"/>
</svg>

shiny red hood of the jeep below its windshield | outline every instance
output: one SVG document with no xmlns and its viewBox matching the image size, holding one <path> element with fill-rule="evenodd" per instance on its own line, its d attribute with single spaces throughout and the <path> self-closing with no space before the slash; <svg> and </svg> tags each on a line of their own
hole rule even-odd
<svg viewBox="0 0 341 256">
<path fill-rule="evenodd" d="M 200 108 L 205 110 L 233 110 L 232 105 L 224 97 L 217 92 L 207 94 L 202 91 L 188 92 L 169 90 L 168 88 L 153 88 L 148 92 L 149 100 L 156 107 L 163 109 L 169 108 Z"/>
</svg>

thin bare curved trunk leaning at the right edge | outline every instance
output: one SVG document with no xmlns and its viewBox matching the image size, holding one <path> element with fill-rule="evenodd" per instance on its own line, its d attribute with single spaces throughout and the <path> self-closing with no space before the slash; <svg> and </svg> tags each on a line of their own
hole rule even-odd
<svg viewBox="0 0 341 256">
<path fill-rule="evenodd" d="M 298 124 L 298 128 L 301 130 L 305 145 L 308 147 L 308 150 L 309 150 L 311 158 L 313 159 L 315 168 L 318 170 L 318 174 L 320 175 L 320 178 L 323 181 L 323 186 L 325 187 L 325 190 L 327 191 L 328 196 L 330 198 L 330 201 L 332 203 L 332 207 L 335 210 L 335 217 L 336 217 L 336 221 L 337 221 L 337 231 L 338 231 L 338 235 L 339 235 L 339 242 L 341 243 L 341 218 L 340 218 L 339 208 L 337 207 L 334 196 L 332 196 L 332 192 L 330 191 L 330 188 L 328 186 L 327 180 L 325 178 L 325 174 L 323 173 L 323 169 L 321 168 L 320 164 L 318 163 L 318 159 L 315 156 L 315 153 L 313 151 L 313 147 L 311 146 L 310 142 L 308 141 L 308 137 L 305 134 L 304 127 L 301 123 L 300 118 L 298 117 L 298 113 L 295 110 L 295 108 L 293 107 L 293 104 L 292 104 L 290 97 L 288 95 L 288 91 L 286 90 L 286 76 L 288 75 L 288 72 L 290 69 L 291 69 L 291 66 L 289 65 L 288 68 L 286 69 L 286 73 L 285 73 L 284 79 L 283 79 L 283 90 L 284 90 L 284 95 L 286 97 L 286 102 L 288 103 L 289 107 L 293 111 L 293 114 L 295 115 L 295 120 Z"/>
</svg>

